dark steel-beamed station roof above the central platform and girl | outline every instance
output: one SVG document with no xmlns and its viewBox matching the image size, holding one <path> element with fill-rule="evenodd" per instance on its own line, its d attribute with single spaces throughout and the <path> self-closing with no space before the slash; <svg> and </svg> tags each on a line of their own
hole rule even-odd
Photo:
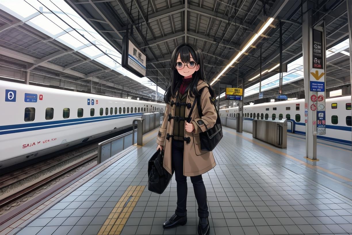
<svg viewBox="0 0 352 235">
<path fill-rule="evenodd" d="M 279 20 L 282 22 L 283 63 L 302 56 L 302 6 L 306 1 L 289 0 L 66 0 L 78 14 L 102 37 L 121 50 L 127 27 L 133 27 L 133 40 L 145 50 L 147 77 L 163 89 L 170 74 L 170 56 L 175 47 L 184 42 L 195 44 L 202 51 L 205 72 L 212 82 L 221 70 L 241 51 L 268 18 L 271 25 L 253 42 L 245 53 L 220 76 L 223 84 L 245 88 L 256 85 L 259 78 L 260 47 L 263 71 L 279 63 Z M 312 4 L 314 22 L 326 19 L 327 48 L 348 37 L 346 1 L 324 0 Z M 327 64 L 327 87 L 345 84 L 344 71 L 349 66 L 348 48 L 345 54 L 332 55 Z M 341 68 L 337 66 L 341 65 Z M 301 64 L 302 65 L 302 64 Z M 342 70 L 341 70 L 342 69 Z M 278 73 L 278 67 L 263 74 L 263 80 Z M 289 76 L 286 74 L 285 76 Z M 303 80 L 295 75 L 283 93 L 300 91 Z M 295 77 L 295 78 L 294 78 Z M 218 94 L 218 86 L 213 88 Z M 224 88 L 220 89 L 220 93 Z M 278 88 L 268 89 L 266 95 L 278 94 Z M 253 97 L 249 97 L 250 99 Z M 264 95 L 265 96 L 265 95 Z"/>
</svg>

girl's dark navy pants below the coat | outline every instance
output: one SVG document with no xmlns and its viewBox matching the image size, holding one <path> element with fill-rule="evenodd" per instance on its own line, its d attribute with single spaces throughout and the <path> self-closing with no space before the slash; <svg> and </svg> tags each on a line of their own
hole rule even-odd
<svg viewBox="0 0 352 235">
<path fill-rule="evenodd" d="M 187 177 L 183 175 L 183 140 L 172 140 L 171 161 L 175 170 L 175 178 L 177 183 L 177 208 L 175 214 L 178 216 L 186 216 L 187 202 Z M 202 175 L 191 176 L 194 194 L 198 203 L 198 216 L 208 217 L 207 192 L 205 190 Z"/>
</svg>

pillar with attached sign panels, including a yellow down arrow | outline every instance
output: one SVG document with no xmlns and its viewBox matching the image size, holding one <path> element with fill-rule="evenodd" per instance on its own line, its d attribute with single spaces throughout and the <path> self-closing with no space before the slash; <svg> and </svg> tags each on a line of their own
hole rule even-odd
<svg viewBox="0 0 352 235">
<path fill-rule="evenodd" d="M 325 101 L 325 45 L 323 45 L 323 33 L 321 30 L 312 29 L 312 3 L 303 4 L 302 25 L 302 49 L 303 49 L 303 72 L 304 72 L 304 107 L 296 106 L 296 110 L 304 109 L 304 123 L 306 125 L 306 159 L 316 159 L 316 135 L 319 95 L 321 101 Z M 319 94 L 318 94 L 319 92 Z M 319 104 L 318 104 L 319 103 Z M 325 102 L 323 104 L 325 112 Z M 320 106 L 322 111 L 322 106 Z M 325 117 L 323 117 L 325 118 Z M 322 120 L 320 120 L 322 123 Z M 325 125 L 325 120 L 324 120 Z"/>
</svg>

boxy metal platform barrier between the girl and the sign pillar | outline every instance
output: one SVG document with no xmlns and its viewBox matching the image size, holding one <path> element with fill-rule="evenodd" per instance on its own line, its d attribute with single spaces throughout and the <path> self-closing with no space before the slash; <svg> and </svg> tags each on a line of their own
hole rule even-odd
<svg viewBox="0 0 352 235">
<path fill-rule="evenodd" d="M 287 148 L 287 119 L 277 119 L 253 119 L 253 138 L 279 148 Z"/>
</svg>

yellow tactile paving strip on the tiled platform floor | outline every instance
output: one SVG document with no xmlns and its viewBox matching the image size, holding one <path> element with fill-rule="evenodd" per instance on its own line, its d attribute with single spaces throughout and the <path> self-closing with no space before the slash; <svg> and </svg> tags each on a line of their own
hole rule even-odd
<svg viewBox="0 0 352 235">
<path fill-rule="evenodd" d="M 119 235 L 136 206 L 145 186 L 129 186 L 120 200 L 116 203 L 98 235 Z"/>
</svg>

